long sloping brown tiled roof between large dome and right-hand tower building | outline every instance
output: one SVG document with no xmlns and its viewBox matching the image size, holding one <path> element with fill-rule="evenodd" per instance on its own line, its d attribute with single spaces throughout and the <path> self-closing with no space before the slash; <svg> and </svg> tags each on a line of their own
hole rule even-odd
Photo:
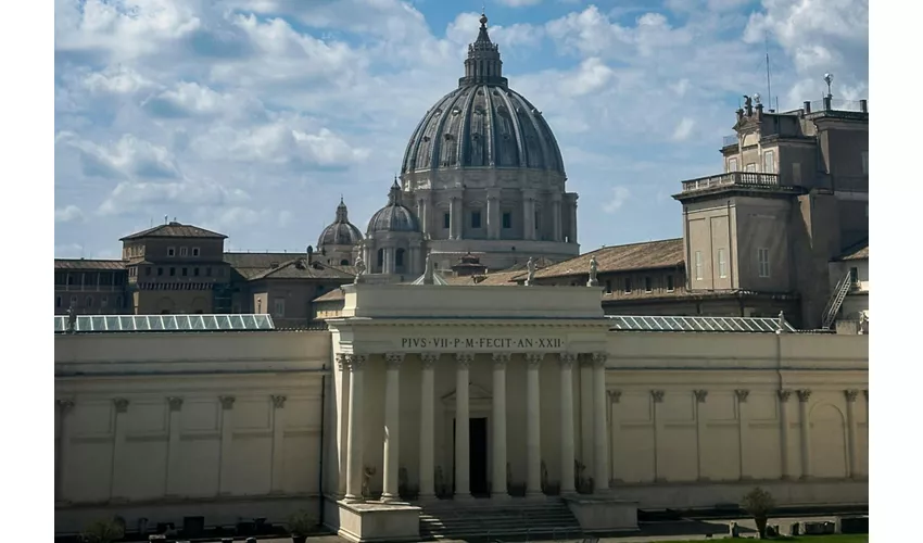
<svg viewBox="0 0 923 543">
<path fill-rule="evenodd" d="M 627 245 L 604 247 L 603 249 L 581 254 L 569 261 L 559 262 L 544 269 L 539 269 L 535 273 L 535 278 L 590 275 L 590 258 L 593 256 L 596 256 L 596 270 L 598 274 L 675 267 L 682 266 L 685 262 L 682 238 L 643 241 Z M 526 277 L 524 274 L 520 274 L 520 276 Z"/>
</svg>

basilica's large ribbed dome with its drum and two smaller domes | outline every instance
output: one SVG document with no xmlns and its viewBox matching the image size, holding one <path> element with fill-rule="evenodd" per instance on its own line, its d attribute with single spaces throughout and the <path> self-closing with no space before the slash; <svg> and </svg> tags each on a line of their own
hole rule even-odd
<svg viewBox="0 0 923 543">
<path fill-rule="evenodd" d="M 401 176 L 365 238 L 338 211 L 318 239 L 319 251 L 337 254 L 349 240 L 353 256 L 339 261 L 362 256 L 369 280 L 416 277 L 426 254 L 440 269 L 468 253 L 490 269 L 579 254 L 578 197 L 567 192 L 560 149 L 542 112 L 509 88 L 486 23 L 482 15 L 458 87 L 410 135 Z"/>
</svg>

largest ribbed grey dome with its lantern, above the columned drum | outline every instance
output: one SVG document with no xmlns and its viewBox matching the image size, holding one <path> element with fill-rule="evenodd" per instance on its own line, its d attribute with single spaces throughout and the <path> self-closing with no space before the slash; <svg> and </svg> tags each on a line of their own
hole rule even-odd
<svg viewBox="0 0 923 543">
<path fill-rule="evenodd" d="M 564 175 L 557 140 L 542 112 L 507 86 L 497 46 L 481 16 L 465 77 L 423 116 L 404 152 L 402 174 L 439 168 L 531 168 Z"/>
</svg>

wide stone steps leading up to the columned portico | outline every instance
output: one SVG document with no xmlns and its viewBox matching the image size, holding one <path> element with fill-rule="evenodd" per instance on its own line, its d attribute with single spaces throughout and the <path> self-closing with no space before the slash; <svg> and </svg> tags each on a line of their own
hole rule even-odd
<svg viewBox="0 0 923 543">
<path fill-rule="evenodd" d="M 508 503 L 444 500 L 414 505 L 421 508 L 423 540 L 565 540 L 580 539 L 583 533 L 567 504 L 558 497 L 536 502 L 513 497 Z"/>
</svg>

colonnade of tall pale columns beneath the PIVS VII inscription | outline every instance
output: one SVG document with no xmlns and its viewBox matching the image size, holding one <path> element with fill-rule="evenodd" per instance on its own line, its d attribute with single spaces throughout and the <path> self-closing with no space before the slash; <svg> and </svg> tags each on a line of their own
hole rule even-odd
<svg viewBox="0 0 923 543">
<path fill-rule="evenodd" d="M 404 338 L 406 339 L 406 338 Z M 505 341 L 508 340 L 508 341 Z M 513 345 L 516 341 L 511 338 L 498 338 L 491 340 L 501 345 Z M 454 342 L 453 342 L 454 343 Z M 535 341 L 530 341 L 533 345 Z M 546 346 L 557 345 L 558 341 L 543 342 Z M 593 478 L 596 481 L 605 481 L 604 484 L 595 484 L 595 492 L 605 492 L 608 489 L 609 466 L 609 435 L 606 426 L 607 394 L 605 384 L 606 354 L 602 352 L 574 353 L 574 352 L 535 352 L 535 351 L 502 351 L 492 353 L 482 352 L 388 352 L 388 353 L 339 353 L 338 368 L 340 382 L 344 393 L 341 395 L 342 408 L 340 413 L 347 413 L 345 417 L 346 428 L 343 434 L 346 437 L 346 454 L 343 463 L 345 470 L 345 488 L 343 497 L 347 503 L 359 503 L 369 500 L 369 489 L 363 489 L 363 477 L 368 462 L 376 457 L 377 453 L 365 451 L 363 428 L 365 425 L 365 413 L 382 411 L 383 422 L 383 451 L 382 451 L 382 476 L 380 502 L 392 503 L 400 500 L 399 472 L 401 470 L 401 451 L 407 445 L 402 444 L 402 430 L 405 439 L 414 440 L 414 447 L 418 446 L 418 466 L 416 473 L 407 473 L 418 481 L 418 496 L 421 501 L 433 500 L 438 495 L 445 496 L 437 488 L 437 435 L 439 426 L 453 425 L 453 446 L 446 458 L 443 454 L 442 465 L 452 466 L 451 479 L 447 481 L 450 488 L 454 484 L 451 497 L 454 500 L 471 500 L 471 463 L 472 463 L 472 437 L 470 433 L 471 419 L 471 366 L 475 361 L 490 364 L 490 435 L 482 435 L 489 442 L 490 471 L 488 476 L 490 497 L 493 500 L 507 500 L 510 497 L 508 481 L 511 467 L 510 457 L 507 454 L 509 434 L 507 428 L 509 418 L 507 413 L 511 409 L 517 413 L 524 412 L 524 443 L 526 455 L 522 466 L 518 471 L 524 475 L 524 497 L 539 498 L 545 495 L 543 489 L 543 462 L 549 457 L 558 458 L 558 466 L 547 471 L 554 471 L 555 479 L 559 483 L 559 492 L 562 495 L 577 492 L 574 483 L 576 442 L 574 428 L 574 367 L 578 361 L 585 359 L 593 364 L 593 391 L 594 404 L 597 408 L 594 413 L 600 414 L 593 420 L 593 444 L 594 462 Z M 366 402 L 367 394 L 364 389 L 365 372 L 371 364 L 383 365 L 384 393 L 381 405 L 370 405 Z M 482 364 L 483 365 L 483 364 Z M 541 372 L 543 366 L 549 366 L 552 371 Z M 524 372 L 526 393 L 510 397 L 507 393 L 508 369 L 515 368 L 516 375 Z M 379 368 L 380 371 L 381 368 Z M 438 378 L 445 381 L 451 377 L 454 381 L 454 409 L 447 413 L 437 413 L 433 408 L 437 397 L 435 383 Z M 556 393 L 548 393 L 551 387 L 542 379 L 549 381 Z M 419 383 L 417 391 L 407 390 L 406 382 Z M 545 391 L 543 393 L 542 391 Z M 404 395 L 418 395 L 419 418 L 413 420 L 413 426 L 402 420 L 401 403 Z M 516 403 L 519 405 L 516 405 Z M 513 404 L 513 405 L 511 405 Z M 548 430 L 547 421 L 543 421 L 543 411 L 549 408 L 559 409 L 560 417 L 557 420 L 556 431 Z M 549 431 L 549 438 L 545 439 L 543 446 L 542 431 Z M 558 439 L 559 437 L 559 439 Z M 477 439 L 477 438 L 476 438 Z M 559 445 L 556 445 L 558 444 Z M 445 447 L 443 447 L 444 450 Z M 557 449 L 552 451 L 552 449 Z M 444 451 L 443 451 L 444 452 Z M 477 458 L 473 458 L 477 462 Z M 409 470 L 408 470 L 409 471 Z M 342 488 L 342 487 L 341 487 Z M 486 497 L 481 495 L 479 497 Z"/>
</svg>

